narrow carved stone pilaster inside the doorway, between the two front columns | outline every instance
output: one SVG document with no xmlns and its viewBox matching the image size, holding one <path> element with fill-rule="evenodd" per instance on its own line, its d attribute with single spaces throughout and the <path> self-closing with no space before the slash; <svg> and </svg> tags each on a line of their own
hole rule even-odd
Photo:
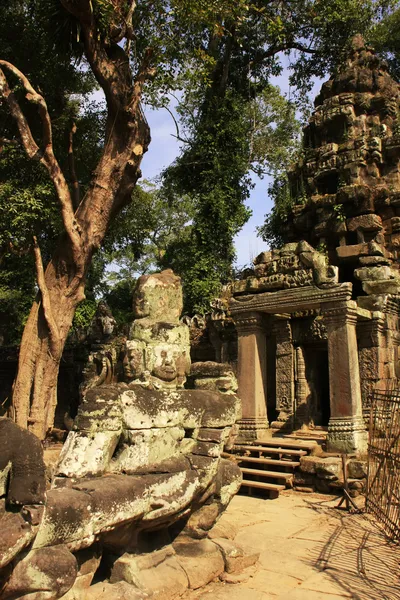
<svg viewBox="0 0 400 600">
<path fill-rule="evenodd" d="M 293 427 L 294 418 L 294 349 L 290 315 L 275 315 L 276 337 L 276 410 L 274 427 Z"/>
</svg>

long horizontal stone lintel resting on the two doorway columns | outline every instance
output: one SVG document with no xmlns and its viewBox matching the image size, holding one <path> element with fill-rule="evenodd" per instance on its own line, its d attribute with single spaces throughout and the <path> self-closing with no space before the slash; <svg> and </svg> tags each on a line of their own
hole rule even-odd
<svg viewBox="0 0 400 600">
<path fill-rule="evenodd" d="M 243 313 L 282 314 L 314 310 L 323 308 L 326 304 L 350 300 L 352 287 L 351 283 L 341 283 L 328 288 L 307 286 L 278 292 L 235 296 L 231 298 L 229 308 L 235 322 Z"/>
</svg>

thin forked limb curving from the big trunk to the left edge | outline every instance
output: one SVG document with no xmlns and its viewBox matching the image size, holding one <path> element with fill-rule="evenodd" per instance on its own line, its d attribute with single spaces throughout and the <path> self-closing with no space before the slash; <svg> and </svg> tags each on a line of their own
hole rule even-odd
<svg viewBox="0 0 400 600">
<path fill-rule="evenodd" d="M 40 94 L 30 84 L 28 78 L 11 63 L 0 60 L 0 66 L 11 71 L 22 83 L 26 93 L 26 99 L 38 107 L 39 115 L 43 125 L 43 149 L 40 150 L 36 143 L 29 123 L 23 114 L 21 107 L 10 89 L 7 79 L 2 69 L 0 69 L 0 95 L 3 96 L 9 106 L 11 115 L 13 116 L 21 136 L 22 144 L 28 157 L 33 160 L 38 160 L 47 169 L 49 176 L 54 184 L 57 192 L 57 197 L 61 207 L 62 220 L 65 231 L 67 232 L 73 247 L 74 255 L 77 256 L 81 250 L 80 231 L 74 217 L 74 209 L 71 199 L 71 194 L 68 189 L 65 177 L 60 169 L 56 157 L 53 152 L 52 130 L 50 115 L 47 110 L 46 102 Z"/>
</svg>

